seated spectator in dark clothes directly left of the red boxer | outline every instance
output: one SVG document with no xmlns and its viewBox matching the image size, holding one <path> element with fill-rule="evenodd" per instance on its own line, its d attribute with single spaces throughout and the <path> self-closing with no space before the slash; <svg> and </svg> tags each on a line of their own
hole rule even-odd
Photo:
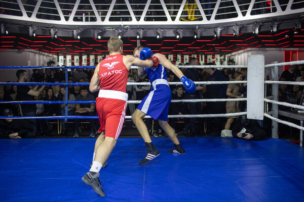
<svg viewBox="0 0 304 202">
<path fill-rule="evenodd" d="M 76 101 L 95 101 L 95 97 L 92 94 L 89 94 L 88 88 L 86 86 L 81 87 L 80 94 L 77 95 Z M 94 103 L 81 103 L 81 104 L 75 104 L 75 116 L 94 116 L 94 110 L 95 110 L 95 104 Z M 79 137 L 79 126 L 80 126 L 80 120 L 75 119 L 74 120 L 75 126 L 74 126 L 74 136 L 73 137 Z M 90 119 L 90 129 L 91 133 L 89 137 L 95 137 L 95 121 Z"/>
</svg>

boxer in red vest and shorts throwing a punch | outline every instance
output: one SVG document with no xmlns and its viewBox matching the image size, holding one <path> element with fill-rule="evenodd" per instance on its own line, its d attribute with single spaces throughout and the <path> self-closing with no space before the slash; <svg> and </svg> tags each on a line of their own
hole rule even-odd
<svg viewBox="0 0 304 202">
<path fill-rule="evenodd" d="M 139 60 L 123 56 L 123 41 L 111 36 L 107 43 L 109 56 L 95 68 L 90 91 L 99 91 L 96 110 L 102 134 L 97 138 L 91 169 L 82 180 L 92 186 L 97 194 L 105 196 L 100 186 L 99 171 L 114 148 L 125 120 L 128 94 L 126 93 L 129 70 L 132 65 L 150 68 L 158 66 L 158 58 Z M 105 133 L 103 133 L 105 131 Z"/>
</svg>

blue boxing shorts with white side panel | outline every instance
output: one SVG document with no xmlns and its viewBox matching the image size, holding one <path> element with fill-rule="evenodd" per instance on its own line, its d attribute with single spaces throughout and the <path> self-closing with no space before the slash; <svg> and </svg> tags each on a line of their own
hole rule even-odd
<svg viewBox="0 0 304 202">
<path fill-rule="evenodd" d="M 158 84 L 151 88 L 151 91 L 143 98 L 137 109 L 153 119 L 167 121 L 170 103 L 170 87 L 166 84 Z"/>
</svg>

